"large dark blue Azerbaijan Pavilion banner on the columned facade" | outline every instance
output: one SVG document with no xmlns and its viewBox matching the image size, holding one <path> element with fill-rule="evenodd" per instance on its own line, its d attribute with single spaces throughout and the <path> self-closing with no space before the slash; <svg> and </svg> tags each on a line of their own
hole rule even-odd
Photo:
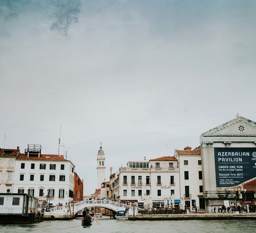
<svg viewBox="0 0 256 233">
<path fill-rule="evenodd" d="M 214 148 L 214 157 L 217 189 L 256 190 L 256 148 Z"/>
</svg>

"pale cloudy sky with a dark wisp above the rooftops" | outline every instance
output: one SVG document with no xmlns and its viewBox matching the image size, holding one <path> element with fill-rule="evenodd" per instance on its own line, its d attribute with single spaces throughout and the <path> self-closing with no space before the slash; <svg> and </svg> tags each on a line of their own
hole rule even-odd
<svg viewBox="0 0 256 233">
<path fill-rule="evenodd" d="M 58 138 L 97 188 L 109 167 L 256 121 L 256 1 L 0 0 L 0 147 Z M 61 154 L 64 146 L 60 147 Z"/>
</svg>

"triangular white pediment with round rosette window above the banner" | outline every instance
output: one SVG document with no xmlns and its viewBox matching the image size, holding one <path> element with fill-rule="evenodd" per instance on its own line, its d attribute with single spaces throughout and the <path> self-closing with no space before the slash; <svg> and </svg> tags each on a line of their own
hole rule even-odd
<svg viewBox="0 0 256 233">
<path fill-rule="evenodd" d="M 201 136 L 256 136 L 256 122 L 239 116 L 202 133 Z"/>
</svg>

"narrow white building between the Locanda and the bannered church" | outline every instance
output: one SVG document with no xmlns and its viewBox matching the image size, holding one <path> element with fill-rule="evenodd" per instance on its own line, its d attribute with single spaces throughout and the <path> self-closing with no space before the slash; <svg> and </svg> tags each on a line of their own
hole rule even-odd
<svg viewBox="0 0 256 233">
<path fill-rule="evenodd" d="M 174 156 L 179 163 L 180 197 L 187 207 L 205 209 L 203 199 L 202 161 L 200 146 L 191 150 L 175 150 Z"/>
</svg>

